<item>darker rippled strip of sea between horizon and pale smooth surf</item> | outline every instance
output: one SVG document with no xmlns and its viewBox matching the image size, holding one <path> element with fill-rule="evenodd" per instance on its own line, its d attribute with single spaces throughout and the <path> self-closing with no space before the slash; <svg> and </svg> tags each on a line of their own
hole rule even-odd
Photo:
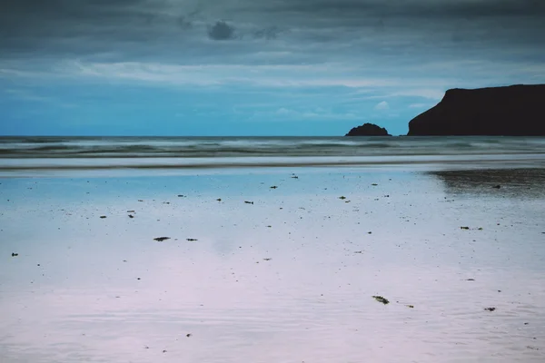
<svg viewBox="0 0 545 363">
<path fill-rule="evenodd" d="M 203 158 L 545 153 L 544 138 L 0 138 L 0 158 Z"/>
</svg>

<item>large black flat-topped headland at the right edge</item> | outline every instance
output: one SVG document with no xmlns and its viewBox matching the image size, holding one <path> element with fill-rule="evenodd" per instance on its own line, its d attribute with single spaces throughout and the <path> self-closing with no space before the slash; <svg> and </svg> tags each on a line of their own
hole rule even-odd
<svg viewBox="0 0 545 363">
<path fill-rule="evenodd" d="M 448 90 L 409 123 L 409 136 L 545 135 L 545 84 Z"/>
</svg>

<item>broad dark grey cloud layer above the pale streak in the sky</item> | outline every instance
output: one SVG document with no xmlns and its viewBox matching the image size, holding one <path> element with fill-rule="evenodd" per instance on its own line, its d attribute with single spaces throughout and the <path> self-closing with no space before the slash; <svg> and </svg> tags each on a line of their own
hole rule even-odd
<svg viewBox="0 0 545 363">
<path fill-rule="evenodd" d="M 545 56 L 543 0 L 0 2 L 0 62 L 10 60 L 10 68 L 17 59 L 40 57 L 166 64 L 366 60 L 393 67 L 423 58 Z M 232 39 L 240 41 L 227 42 Z"/>
</svg>

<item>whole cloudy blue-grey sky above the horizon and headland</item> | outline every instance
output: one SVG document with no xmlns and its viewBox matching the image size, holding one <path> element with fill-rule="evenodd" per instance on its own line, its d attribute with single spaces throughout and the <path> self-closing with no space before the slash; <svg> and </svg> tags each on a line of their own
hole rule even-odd
<svg viewBox="0 0 545 363">
<path fill-rule="evenodd" d="M 543 0 L 0 0 L 0 135 L 405 134 L 545 83 Z"/>
</svg>

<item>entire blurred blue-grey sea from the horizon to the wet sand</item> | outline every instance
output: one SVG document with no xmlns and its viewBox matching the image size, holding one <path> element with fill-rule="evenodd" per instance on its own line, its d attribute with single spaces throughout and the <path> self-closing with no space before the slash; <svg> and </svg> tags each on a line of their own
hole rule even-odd
<svg viewBox="0 0 545 363">
<path fill-rule="evenodd" d="M 541 168 L 543 137 L 0 137 L 0 176 L 76 171 Z"/>
</svg>

